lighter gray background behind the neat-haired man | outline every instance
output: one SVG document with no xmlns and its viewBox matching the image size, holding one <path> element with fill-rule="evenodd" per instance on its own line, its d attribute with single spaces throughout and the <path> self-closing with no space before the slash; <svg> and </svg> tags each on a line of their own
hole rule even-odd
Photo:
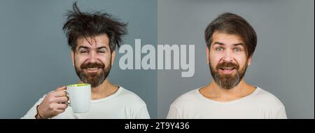
<svg viewBox="0 0 315 133">
<path fill-rule="evenodd" d="M 212 80 L 204 29 L 224 12 L 241 15 L 258 35 L 246 81 L 278 97 L 288 118 L 314 119 L 313 0 L 159 0 L 158 44 L 195 45 L 195 76 L 158 71 L 158 118 L 181 94 Z"/>
</svg>

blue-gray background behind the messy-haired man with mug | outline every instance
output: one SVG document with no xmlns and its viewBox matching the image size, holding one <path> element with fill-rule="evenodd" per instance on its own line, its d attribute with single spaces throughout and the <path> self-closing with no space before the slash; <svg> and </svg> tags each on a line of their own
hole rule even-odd
<svg viewBox="0 0 315 133">
<path fill-rule="evenodd" d="M 0 118 L 20 118 L 56 87 L 77 83 L 62 25 L 73 1 L 0 1 Z M 129 22 L 124 43 L 157 44 L 157 1 L 78 1 L 84 11 L 104 10 Z M 157 71 L 123 71 L 118 60 L 110 80 L 139 95 L 157 117 Z"/>
</svg>

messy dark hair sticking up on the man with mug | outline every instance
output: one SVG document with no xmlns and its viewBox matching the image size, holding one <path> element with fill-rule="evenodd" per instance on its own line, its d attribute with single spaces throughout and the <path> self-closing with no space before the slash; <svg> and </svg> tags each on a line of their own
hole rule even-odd
<svg viewBox="0 0 315 133">
<path fill-rule="evenodd" d="M 66 13 L 67 20 L 62 28 L 68 38 L 68 44 L 73 52 L 76 50 L 77 40 L 80 37 L 94 37 L 101 34 L 106 34 L 109 37 L 109 46 L 113 52 L 120 43 L 122 43 L 122 36 L 127 34 L 127 24 L 119 22 L 107 13 L 95 12 L 85 13 L 81 12 L 73 3 L 73 10 Z"/>
</svg>

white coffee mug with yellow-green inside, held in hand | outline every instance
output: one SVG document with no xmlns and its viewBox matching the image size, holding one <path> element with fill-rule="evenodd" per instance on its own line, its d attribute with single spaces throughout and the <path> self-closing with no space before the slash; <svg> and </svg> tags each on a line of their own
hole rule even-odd
<svg viewBox="0 0 315 133">
<path fill-rule="evenodd" d="M 69 97 L 67 104 L 71 106 L 73 113 L 85 113 L 90 110 L 90 84 L 67 85 L 64 91 L 66 91 L 66 95 Z"/>
</svg>

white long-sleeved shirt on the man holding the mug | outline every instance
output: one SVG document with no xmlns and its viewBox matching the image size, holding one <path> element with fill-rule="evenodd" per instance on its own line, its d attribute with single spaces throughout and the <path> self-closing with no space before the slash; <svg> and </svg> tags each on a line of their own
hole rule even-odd
<svg viewBox="0 0 315 133">
<path fill-rule="evenodd" d="M 44 96 L 45 97 L 45 96 Z M 43 98 L 44 98 L 43 97 Z M 43 98 L 22 117 L 34 119 L 36 115 L 36 106 L 41 104 Z M 146 103 L 129 90 L 123 87 L 103 99 L 91 100 L 90 111 L 87 113 L 73 113 L 71 106 L 66 111 L 52 119 L 146 119 L 150 118 Z"/>
</svg>

